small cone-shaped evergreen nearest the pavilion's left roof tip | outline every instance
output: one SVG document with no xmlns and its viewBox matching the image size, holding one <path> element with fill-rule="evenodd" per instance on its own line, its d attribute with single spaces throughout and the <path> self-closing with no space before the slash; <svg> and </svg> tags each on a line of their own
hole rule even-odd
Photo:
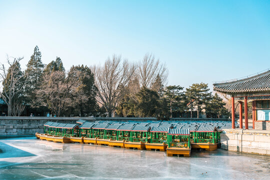
<svg viewBox="0 0 270 180">
<path fill-rule="evenodd" d="M 211 117 L 213 115 L 217 115 L 218 117 L 221 115 L 228 115 L 228 111 L 224 105 L 226 105 L 226 103 L 223 102 L 223 99 L 219 97 L 217 93 L 215 93 L 209 103 L 206 104 L 205 113 Z"/>
</svg>

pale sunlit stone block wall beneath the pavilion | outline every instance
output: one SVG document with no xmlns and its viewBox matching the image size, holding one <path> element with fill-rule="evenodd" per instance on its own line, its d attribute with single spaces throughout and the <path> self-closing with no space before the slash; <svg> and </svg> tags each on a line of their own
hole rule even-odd
<svg viewBox="0 0 270 180">
<path fill-rule="evenodd" d="M 222 149 L 270 155 L 270 130 L 224 129 L 220 140 Z"/>
</svg>

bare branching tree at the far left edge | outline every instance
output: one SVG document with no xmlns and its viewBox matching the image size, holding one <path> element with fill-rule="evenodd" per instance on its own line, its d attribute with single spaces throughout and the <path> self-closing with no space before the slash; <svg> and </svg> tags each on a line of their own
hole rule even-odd
<svg viewBox="0 0 270 180">
<path fill-rule="evenodd" d="M 0 96 L 3 101 L 7 104 L 7 114 L 11 115 L 12 112 L 12 98 L 17 95 L 23 89 L 26 75 L 20 70 L 19 61 L 23 57 L 6 57 L 8 69 L 5 68 L 4 64 L 0 64 L 0 83 L 2 83 L 3 88 L 0 92 Z"/>
</svg>

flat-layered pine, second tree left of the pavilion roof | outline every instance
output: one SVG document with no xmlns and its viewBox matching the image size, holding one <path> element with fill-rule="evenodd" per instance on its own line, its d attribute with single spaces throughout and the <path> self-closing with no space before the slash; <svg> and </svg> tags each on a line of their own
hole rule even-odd
<svg viewBox="0 0 270 180">
<path fill-rule="evenodd" d="M 199 112 L 204 108 L 208 101 L 211 99 L 211 92 L 209 92 L 208 85 L 205 83 L 193 83 L 189 88 L 186 88 L 185 96 L 192 109 L 196 108 L 197 118 L 199 118 Z"/>
</svg>

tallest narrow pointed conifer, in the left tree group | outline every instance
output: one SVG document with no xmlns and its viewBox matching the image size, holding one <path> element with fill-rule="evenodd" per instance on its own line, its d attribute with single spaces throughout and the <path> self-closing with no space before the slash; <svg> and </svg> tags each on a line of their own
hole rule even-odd
<svg viewBox="0 0 270 180">
<path fill-rule="evenodd" d="M 35 99 L 35 91 L 41 85 L 43 67 L 44 64 L 41 61 L 41 52 L 36 45 L 25 70 L 27 79 L 24 90 L 27 103 L 32 104 L 33 100 Z"/>
</svg>

